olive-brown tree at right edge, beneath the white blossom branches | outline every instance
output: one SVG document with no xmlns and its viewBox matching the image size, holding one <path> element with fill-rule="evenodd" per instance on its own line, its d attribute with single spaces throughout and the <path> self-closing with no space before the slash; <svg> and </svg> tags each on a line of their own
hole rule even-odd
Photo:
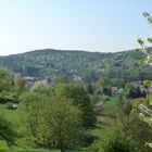
<svg viewBox="0 0 152 152">
<path fill-rule="evenodd" d="M 147 100 L 135 100 L 132 102 L 132 110 L 130 114 L 127 116 L 126 127 L 128 135 L 132 139 L 132 143 L 135 144 L 138 152 L 150 152 L 151 149 L 145 147 L 145 142 L 151 142 L 152 131 L 151 127 L 144 123 L 144 116 L 139 110 L 140 106 L 145 104 Z"/>
</svg>

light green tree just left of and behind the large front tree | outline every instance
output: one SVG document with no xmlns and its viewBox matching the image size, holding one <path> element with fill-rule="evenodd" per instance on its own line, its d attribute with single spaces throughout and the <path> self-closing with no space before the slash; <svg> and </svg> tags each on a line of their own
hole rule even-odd
<svg viewBox="0 0 152 152">
<path fill-rule="evenodd" d="M 49 101 L 49 97 L 40 92 L 24 92 L 20 99 L 21 106 L 25 111 L 26 128 L 30 132 L 30 140 L 37 143 L 36 129 L 39 121 L 39 111 L 45 102 Z"/>
</svg>

